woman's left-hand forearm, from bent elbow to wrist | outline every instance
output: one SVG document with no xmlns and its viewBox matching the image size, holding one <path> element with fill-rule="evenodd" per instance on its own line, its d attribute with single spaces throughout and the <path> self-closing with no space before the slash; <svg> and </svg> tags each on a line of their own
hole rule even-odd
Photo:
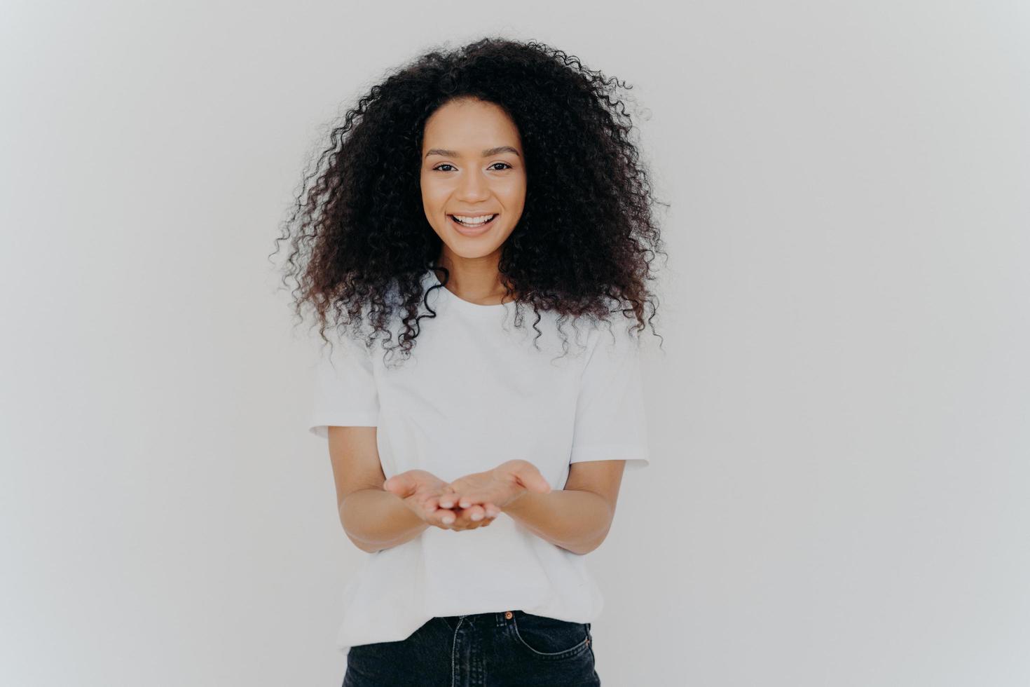
<svg viewBox="0 0 1030 687">
<path fill-rule="evenodd" d="M 350 541 L 369 553 L 404 544 L 430 526 L 397 494 L 378 488 L 358 489 L 344 496 L 340 523 Z"/>
</svg>

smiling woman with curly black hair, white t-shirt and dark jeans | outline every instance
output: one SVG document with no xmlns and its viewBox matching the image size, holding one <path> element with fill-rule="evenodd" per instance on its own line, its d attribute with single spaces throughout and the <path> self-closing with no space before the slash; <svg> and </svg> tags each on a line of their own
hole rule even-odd
<svg viewBox="0 0 1030 687">
<path fill-rule="evenodd" d="M 648 463 L 632 335 L 661 245 L 618 87 L 535 42 L 433 51 L 306 177 L 280 240 L 298 313 L 342 334 L 310 427 L 371 554 L 345 687 L 599 684 L 583 554 Z"/>
</svg>

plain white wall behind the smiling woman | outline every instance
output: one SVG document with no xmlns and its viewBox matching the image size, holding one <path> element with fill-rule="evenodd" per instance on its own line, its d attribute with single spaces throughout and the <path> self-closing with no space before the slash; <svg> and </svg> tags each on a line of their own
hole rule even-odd
<svg viewBox="0 0 1030 687">
<path fill-rule="evenodd" d="M 343 106 L 501 33 L 633 83 L 672 203 L 604 684 L 1030 684 L 1026 3 L 399 5 L 4 3 L 0 683 L 340 683 L 267 256 Z"/>
</svg>

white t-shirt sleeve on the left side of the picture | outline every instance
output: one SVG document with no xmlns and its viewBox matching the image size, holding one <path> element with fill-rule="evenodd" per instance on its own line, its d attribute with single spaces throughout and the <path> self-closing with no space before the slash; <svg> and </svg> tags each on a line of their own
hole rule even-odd
<svg viewBox="0 0 1030 687">
<path fill-rule="evenodd" d="M 369 349 L 337 337 L 321 349 L 314 366 L 308 431 L 329 439 L 329 426 L 377 426 L 379 391 Z"/>
</svg>

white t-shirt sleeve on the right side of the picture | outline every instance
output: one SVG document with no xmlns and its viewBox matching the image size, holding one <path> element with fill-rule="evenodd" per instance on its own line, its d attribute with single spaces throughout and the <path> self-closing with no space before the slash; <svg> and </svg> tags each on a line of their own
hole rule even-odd
<svg viewBox="0 0 1030 687">
<path fill-rule="evenodd" d="M 626 470 L 650 465 L 639 336 L 621 315 L 599 324 L 583 369 L 569 462 L 625 460 Z M 614 342 L 612 338 L 614 337 Z"/>
</svg>

